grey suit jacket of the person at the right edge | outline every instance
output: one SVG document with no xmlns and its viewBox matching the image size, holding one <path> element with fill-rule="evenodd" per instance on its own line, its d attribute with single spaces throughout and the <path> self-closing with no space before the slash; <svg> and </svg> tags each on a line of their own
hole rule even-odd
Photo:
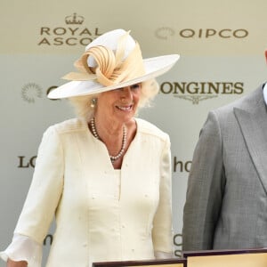
<svg viewBox="0 0 267 267">
<path fill-rule="evenodd" d="M 267 247 L 263 86 L 209 112 L 183 210 L 183 250 Z"/>
</svg>

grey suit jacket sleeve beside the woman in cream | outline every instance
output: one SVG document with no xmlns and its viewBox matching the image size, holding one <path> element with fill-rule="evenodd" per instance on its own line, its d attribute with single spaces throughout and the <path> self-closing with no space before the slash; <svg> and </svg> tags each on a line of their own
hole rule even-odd
<svg viewBox="0 0 267 267">
<path fill-rule="evenodd" d="M 183 251 L 213 248 L 224 182 L 222 134 L 218 118 L 211 111 L 201 129 L 190 169 L 183 208 Z"/>
</svg>

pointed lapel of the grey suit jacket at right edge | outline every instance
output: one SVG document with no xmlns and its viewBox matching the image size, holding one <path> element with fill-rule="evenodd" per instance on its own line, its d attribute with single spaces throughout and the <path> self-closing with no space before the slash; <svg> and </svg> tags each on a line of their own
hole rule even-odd
<svg viewBox="0 0 267 267">
<path fill-rule="evenodd" d="M 251 94 L 239 108 L 234 108 L 234 114 L 267 194 L 267 113 L 262 88 Z"/>
</svg>

